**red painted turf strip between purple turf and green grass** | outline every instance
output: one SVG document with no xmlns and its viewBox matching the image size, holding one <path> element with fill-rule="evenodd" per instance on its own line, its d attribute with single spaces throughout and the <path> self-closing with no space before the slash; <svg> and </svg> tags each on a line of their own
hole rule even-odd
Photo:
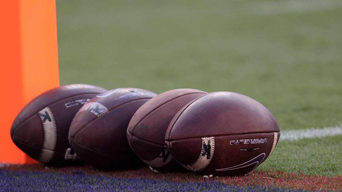
<svg viewBox="0 0 342 192">
<path fill-rule="evenodd" d="M 69 167 L 46 167 L 43 164 L 31 165 L 5 165 L 1 169 L 11 171 L 38 171 L 38 172 L 56 172 L 66 174 L 92 174 L 108 177 L 124 177 L 124 178 L 146 178 L 146 179 L 161 179 L 177 182 L 193 181 L 206 182 L 215 181 L 223 182 L 231 186 L 272 186 L 288 189 L 304 189 L 310 191 L 341 191 L 342 190 L 342 175 L 337 177 L 327 176 L 308 176 L 295 173 L 275 172 L 264 170 L 260 172 L 252 171 L 245 176 L 237 177 L 213 177 L 202 178 L 200 175 L 193 172 L 186 173 L 154 173 L 149 168 L 142 167 L 135 170 L 120 170 L 120 171 L 104 171 L 98 170 L 92 166 L 69 166 Z"/>
</svg>

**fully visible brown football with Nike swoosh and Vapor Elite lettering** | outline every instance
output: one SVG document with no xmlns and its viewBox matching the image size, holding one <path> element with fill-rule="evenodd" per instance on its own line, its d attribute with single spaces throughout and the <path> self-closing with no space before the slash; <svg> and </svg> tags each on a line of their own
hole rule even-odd
<svg viewBox="0 0 342 192">
<path fill-rule="evenodd" d="M 165 135 L 171 155 L 201 175 L 244 175 L 273 152 L 280 132 L 258 101 L 233 92 L 212 92 L 184 106 Z"/>
</svg>

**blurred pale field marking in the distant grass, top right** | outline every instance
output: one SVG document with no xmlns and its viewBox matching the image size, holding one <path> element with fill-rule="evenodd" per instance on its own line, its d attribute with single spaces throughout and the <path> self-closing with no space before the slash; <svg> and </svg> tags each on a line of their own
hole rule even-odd
<svg viewBox="0 0 342 192">
<path fill-rule="evenodd" d="M 340 0 L 290 0 L 248 4 L 248 12 L 255 15 L 276 15 L 283 13 L 302 13 L 325 11 L 342 7 Z"/>
</svg>

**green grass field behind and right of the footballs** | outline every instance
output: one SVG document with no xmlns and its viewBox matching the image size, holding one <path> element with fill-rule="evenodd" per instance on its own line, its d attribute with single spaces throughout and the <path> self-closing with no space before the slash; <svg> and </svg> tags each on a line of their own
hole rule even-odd
<svg viewBox="0 0 342 192">
<path fill-rule="evenodd" d="M 280 132 L 340 126 L 342 2 L 57 0 L 61 84 L 232 91 Z M 281 141 L 257 171 L 342 175 L 342 135 Z"/>
</svg>

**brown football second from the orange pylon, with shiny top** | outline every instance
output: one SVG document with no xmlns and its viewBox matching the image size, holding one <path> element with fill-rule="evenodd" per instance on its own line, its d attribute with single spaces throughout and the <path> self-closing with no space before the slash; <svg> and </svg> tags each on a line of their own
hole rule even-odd
<svg viewBox="0 0 342 192">
<path fill-rule="evenodd" d="M 71 123 L 71 147 L 82 160 L 98 168 L 141 165 L 128 144 L 126 131 L 136 110 L 156 95 L 140 88 L 118 88 L 92 98 Z"/>
</svg>

